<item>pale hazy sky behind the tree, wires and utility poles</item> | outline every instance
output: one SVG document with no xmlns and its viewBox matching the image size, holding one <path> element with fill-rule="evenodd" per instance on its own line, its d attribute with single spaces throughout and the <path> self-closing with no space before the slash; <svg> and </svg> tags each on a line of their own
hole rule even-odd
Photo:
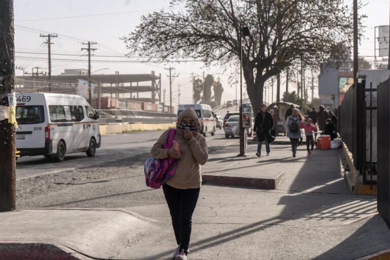
<svg viewBox="0 0 390 260">
<path fill-rule="evenodd" d="M 15 0 L 15 45 L 16 45 L 16 66 L 26 68 L 31 72 L 32 67 L 42 67 L 42 71 L 47 71 L 47 55 L 37 55 L 31 53 L 47 53 L 47 46 L 43 44 L 44 38 L 39 37 L 40 33 L 56 33 L 58 38 L 52 42 L 53 59 L 76 59 L 86 60 L 86 57 L 80 56 L 82 52 L 83 41 L 95 41 L 98 45 L 94 48 L 96 55 L 117 56 L 126 53 L 125 44 L 119 40 L 126 36 L 136 25 L 140 23 L 140 17 L 151 11 L 161 8 L 169 8 L 169 0 Z M 386 25 L 389 23 L 389 3 L 388 0 L 366 0 L 363 3 L 367 5 L 360 10 L 360 14 L 365 13 L 368 18 L 365 19 L 367 26 L 365 37 L 367 39 L 361 42 L 359 55 L 374 56 L 374 26 Z M 345 3 L 352 5 L 352 0 L 345 0 Z M 180 7 L 177 7 L 180 8 Z M 106 14 L 106 15 L 99 15 Z M 50 19 L 54 18 L 54 19 Z M 352 17 L 351 17 L 352 19 Z M 24 52 L 24 53 L 23 53 Z M 28 53 L 31 52 L 31 53 Z M 54 55 L 54 54 L 74 54 Z M 22 58 L 22 57 L 29 57 Z M 32 57 L 32 58 L 31 58 Z M 220 74 L 223 70 L 219 67 L 206 68 L 199 62 L 193 63 L 171 63 L 171 64 L 143 64 L 143 63 L 102 63 L 93 62 L 93 60 L 123 60 L 126 58 L 115 57 L 92 57 L 92 72 L 108 68 L 99 73 L 114 74 L 119 71 L 121 74 L 149 74 L 151 71 L 161 74 L 162 86 L 167 88 L 169 93 L 169 79 L 166 76 L 169 66 L 175 68 L 175 73 L 179 74 L 173 82 L 173 100 L 177 104 L 178 85 L 180 84 L 181 96 L 180 102 L 191 102 L 192 100 L 192 79 L 191 73 L 202 75 L 215 74 L 214 77 L 220 77 L 224 92 L 222 100 L 234 100 L 236 91 L 235 85 L 231 87 L 228 83 L 230 71 L 224 75 Z M 63 69 L 87 69 L 85 61 L 53 60 L 52 75 L 63 72 Z M 22 71 L 17 70 L 17 75 Z M 294 88 L 293 88 L 294 90 Z M 282 87 L 281 91 L 284 91 Z M 291 91 L 291 90 L 290 90 Z M 274 90 L 274 100 L 276 89 Z M 239 92 L 238 92 L 239 94 Z M 167 95 L 167 100 L 169 95 Z M 270 98 L 269 98 L 270 100 Z M 168 101 L 167 101 L 168 102 Z"/>
</svg>

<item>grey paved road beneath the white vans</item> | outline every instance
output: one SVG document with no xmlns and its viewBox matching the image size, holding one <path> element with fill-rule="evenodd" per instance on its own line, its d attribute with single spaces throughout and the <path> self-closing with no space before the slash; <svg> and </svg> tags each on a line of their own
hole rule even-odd
<svg viewBox="0 0 390 260">
<path fill-rule="evenodd" d="M 85 153 L 74 153 L 67 154 L 62 163 L 57 163 L 53 159 L 47 159 L 44 156 L 22 157 L 16 163 L 16 178 L 23 179 L 42 174 L 89 167 L 143 153 L 145 153 L 146 158 L 151 146 L 161 133 L 163 132 L 153 131 L 103 136 L 102 147 L 96 150 L 96 155 L 92 158 L 87 157 Z M 226 142 L 223 136 L 223 130 L 220 129 L 217 129 L 214 137 L 208 135 L 207 139 L 211 153 L 216 151 L 216 148 L 238 142 L 238 139 L 230 139 Z"/>
</svg>

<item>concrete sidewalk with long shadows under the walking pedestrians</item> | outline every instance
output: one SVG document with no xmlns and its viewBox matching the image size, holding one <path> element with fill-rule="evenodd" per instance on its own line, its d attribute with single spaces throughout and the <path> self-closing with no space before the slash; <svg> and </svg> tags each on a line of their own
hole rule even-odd
<svg viewBox="0 0 390 260">
<path fill-rule="evenodd" d="M 344 260 L 390 248 L 390 231 L 375 214 L 376 198 L 349 193 L 340 150 L 315 150 L 306 158 L 306 146 L 299 147 L 293 158 L 288 139 L 279 137 L 270 156 L 256 157 L 250 144 L 249 156 L 242 158 L 236 157 L 236 140 L 210 148 L 203 174 L 240 179 L 201 188 L 188 259 Z M 276 189 L 236 186 L 246 186 L 242 178 L 256 183 L 280 175 Z M 23 209 L 0 213 L 0 219 L 0 259 L 20 259 L 5 252 L 28 253 L 37 244 L 47 245 L 49 254 L 69 252 L 60 259 L 170 259 L 176 247 L 165 203 L 120 210 Z M 43 255 L 36 259 L 50 259 Z"/>
</svg>

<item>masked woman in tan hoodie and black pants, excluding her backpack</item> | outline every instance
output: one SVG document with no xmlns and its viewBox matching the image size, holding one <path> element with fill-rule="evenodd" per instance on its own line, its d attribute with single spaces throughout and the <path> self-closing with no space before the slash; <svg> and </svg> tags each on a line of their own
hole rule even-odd
<svg viewBox="0 0 390 260">
<path fill-rule="evenodd" d="M 192 108 L 180 113 L 176 123 L 173 147 L 164 149 L 169 130 L 153 145 L 151 155 L 157 159 L 177 159 L 175 174 L 163 184 L 164 196 L 172 218 L 177 248 L 176 260 L 186 260 L 191 236 L 192 214 L 198 202 L 202 184 L 201 165 L 206 164 L 206 139 L 199 134 L 201 123 Z"/>
</svg>

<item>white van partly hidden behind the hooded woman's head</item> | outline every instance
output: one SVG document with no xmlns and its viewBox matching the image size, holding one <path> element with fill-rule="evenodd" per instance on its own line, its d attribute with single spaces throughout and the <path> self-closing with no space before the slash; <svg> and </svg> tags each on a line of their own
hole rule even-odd
<svg viewBox="0 0 390 260">
<path fill-rule="evenodd" d="M 197 112 L 198 118 L 201 121 L 201 134 L 203 136 L 207 136 L 207 134 L 215 135 L 215 114 L 209 105 L 205 104 L 186 104 L 179 105 L 177 110 L 177 116 L 179 117 L 180 113 L 183 112 L 184 109 L 191 107 L 195 112 Z"/>
</svg>

